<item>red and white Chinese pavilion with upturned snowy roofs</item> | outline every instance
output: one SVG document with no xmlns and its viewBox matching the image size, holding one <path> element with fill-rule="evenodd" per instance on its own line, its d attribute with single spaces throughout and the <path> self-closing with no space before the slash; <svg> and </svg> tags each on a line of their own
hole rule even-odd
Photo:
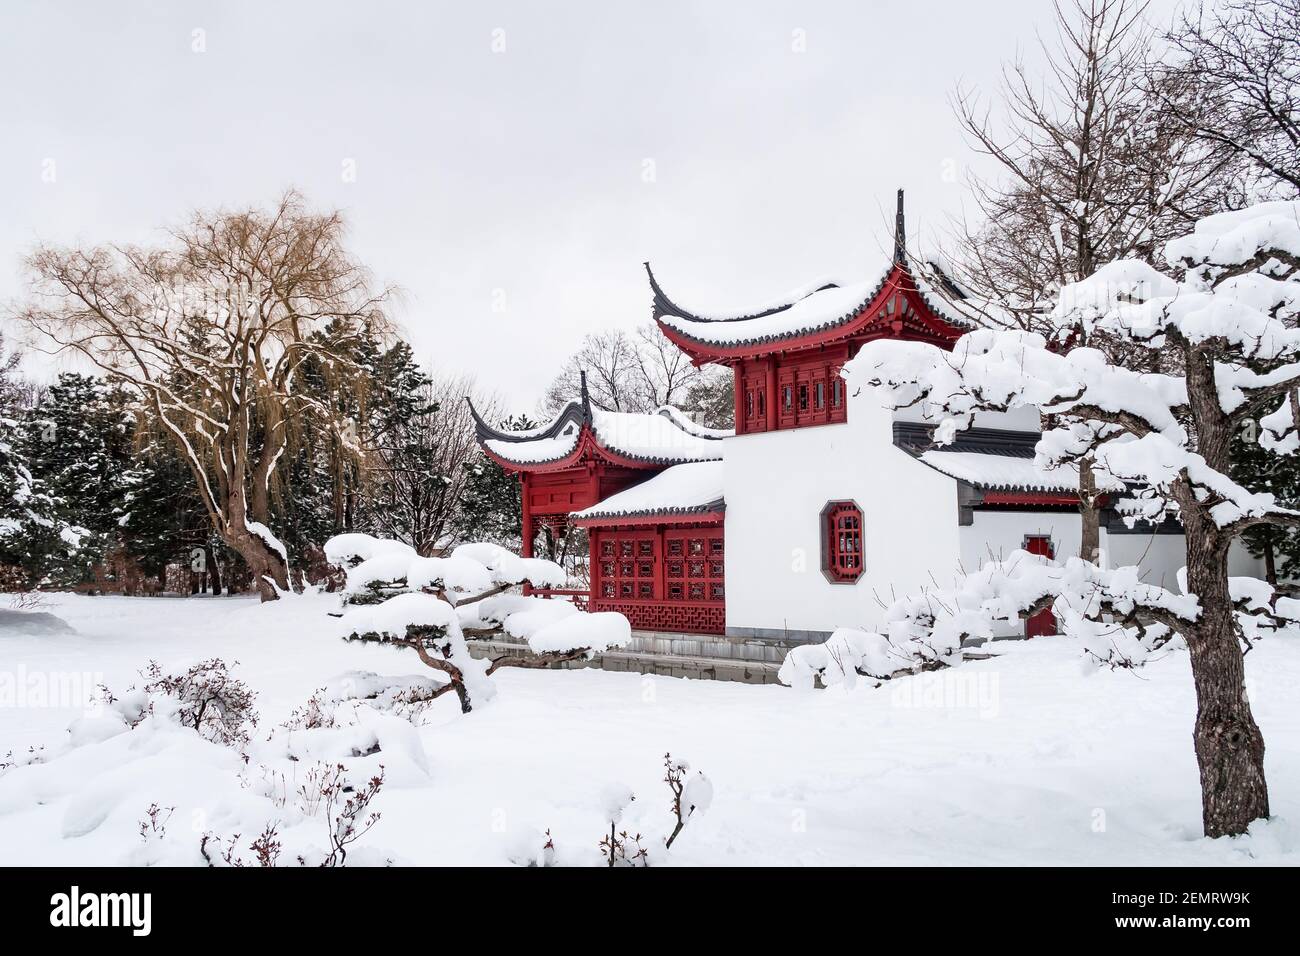
<svg viewBox="0 0 1300 956">
<path fill-rule="evenodd" d="M 606 411 L 585 378 L 542 428 L 504 432 L 476 412 L 484 451 L 519 476 L 524 554 L 542 527 L 586 528 L 590 591 L 575 597 L 593 610 L 642 630 L 818 640 L 989 555 L 1076 553 L 1078 476 L 1037 471 L 1034 410 L 982 415 L 936 447 L 927 423 L 840 376 L 875 338 L 952 349 L 985 307 L 937 264 L 918 268 L 904 226 L 900 190 L 893 256 L 874 277 L 727 315 L 682 307 L 646 263 L 663 334 L 697 365 L 732 371 L 736 428 L 671 407 Z M 1157 533 L 1112 512 L 1102 546 L 1158 579 L 1176 571 L 1182 537 Z M 1050 627 L 1040 617 L 1028 633 Z"/>
</svg>

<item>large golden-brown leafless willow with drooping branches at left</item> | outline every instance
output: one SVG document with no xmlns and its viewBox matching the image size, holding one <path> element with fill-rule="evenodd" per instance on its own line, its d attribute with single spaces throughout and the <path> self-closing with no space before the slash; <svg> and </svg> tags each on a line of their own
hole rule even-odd
<svg viewBox="0 0 1300 956">
<path fill-rule="evenodd" d="M 335 388 L 364 390 L 351 346 L 390 328 L 390 291 L 343 239 L 338 212 L 290 191 L 270 208 L 195 212 L 157 246 L 39 246 L 26 259 L 16 317 L 139 393 L 264 601 L 290 587 L 270 492 L 299 429 L 311 420 L 360 454 L 355 425 L 299 369 L 315 356 Z"/>
</svg>

